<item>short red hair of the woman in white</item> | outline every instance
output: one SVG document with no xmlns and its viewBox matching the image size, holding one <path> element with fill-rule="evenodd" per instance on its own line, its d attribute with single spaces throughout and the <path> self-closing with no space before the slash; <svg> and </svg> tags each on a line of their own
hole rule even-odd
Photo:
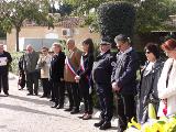
<svg viewBox="0 0 176 132">
<path fill-rule="evenodd" d="M 163 51 L 173 51 L 176 50 L 176 41 L 174 38 L 167 40 L 162 44 Z"/>
</svg>

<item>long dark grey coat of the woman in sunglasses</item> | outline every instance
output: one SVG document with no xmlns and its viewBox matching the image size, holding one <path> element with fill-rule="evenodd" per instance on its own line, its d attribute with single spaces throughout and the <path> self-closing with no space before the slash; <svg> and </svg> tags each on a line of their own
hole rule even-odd
<svg viewBox="0 0 176 132">
<path fill-rule="evenodd" d="M 154 64 L 152 70 L 146 75 L 143 74 L 145 68 L 142 70 L 136 100 L 136 118 L 140 123 L 145 123 L 148 119 L 147 107 L 150 102 L 154 105 L 156 111 L 158 109 L 160 99 L 157 92 L 157 81 L 161 76 L 163 65 L 164 63 L 158 59 Z"/>
</svg>

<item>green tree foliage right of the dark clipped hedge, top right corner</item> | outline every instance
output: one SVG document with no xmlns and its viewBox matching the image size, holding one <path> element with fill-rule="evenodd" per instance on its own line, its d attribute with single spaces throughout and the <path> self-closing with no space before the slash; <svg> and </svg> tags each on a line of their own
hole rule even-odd
<svg viewBox="0 0 176 132">
<path fill-rule="evenodd" d="M 174 4 L 175 3 L 175 4 Z M 138 7 L 135 31 L 145 33 L 167 30 L 164 24 L 169 15 L 176 13 L 176 2 L 169 0 L 145 0 Z"/>
</svg>

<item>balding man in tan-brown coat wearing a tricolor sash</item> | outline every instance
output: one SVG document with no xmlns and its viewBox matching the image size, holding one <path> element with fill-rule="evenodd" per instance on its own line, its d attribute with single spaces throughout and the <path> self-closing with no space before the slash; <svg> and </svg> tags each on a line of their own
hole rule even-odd
<svg viewBox="0 0 176 132">
<path fill-rule="evenodd" d="M 74 114 L 79 112 L 80 103 L 78 84 L 75 80 L 75 76 L 79 68 L 81 52 L 75 46 L 75 41 L 72 38 L 67 41 L 67 47 L 69 53 L 65 59 L 64 80 L 68 92 L 69 108 L 65 111 L 72 111 L 70 113 Z"/>
</svg>

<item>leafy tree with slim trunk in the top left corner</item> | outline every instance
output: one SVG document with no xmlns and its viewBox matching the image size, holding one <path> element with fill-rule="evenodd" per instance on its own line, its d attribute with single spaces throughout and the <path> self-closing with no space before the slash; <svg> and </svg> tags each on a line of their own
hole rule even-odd
<svg viewBox="0 0 176 132">
<path fill-rule="evenodd" d="M 34 21 L 38 25 L 53 26 L 52 18 L 48 15 L 47 0 L 2 0 L 0 2 L 0 21 L 4 32 L 16 30 L 16 51 L 19 51 L 19 32 L 24 20 Z"/>
</svg>

